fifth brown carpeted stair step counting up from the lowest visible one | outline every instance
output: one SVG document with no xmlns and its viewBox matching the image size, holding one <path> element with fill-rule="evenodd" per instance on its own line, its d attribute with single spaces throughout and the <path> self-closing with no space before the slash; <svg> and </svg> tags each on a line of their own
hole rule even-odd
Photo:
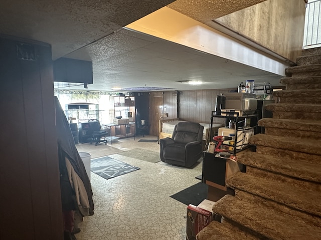
<svg viewBox="0 0 321 240">
<path fill-rule="evenodd" d="M 257 146 L 263 145 L 280 150 L 310 153 L 321 157 L 321 140 L 309 141 L 299 137 L 273 136 L 260 133 L 251 136 L 248 142 Z"/>
</svg>

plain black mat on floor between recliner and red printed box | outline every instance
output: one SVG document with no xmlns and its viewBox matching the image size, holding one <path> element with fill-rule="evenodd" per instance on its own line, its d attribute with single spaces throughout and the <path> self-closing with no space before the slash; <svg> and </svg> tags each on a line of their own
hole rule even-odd
<svg viewBox="0 0 321 240">
<path fill-rule="evenodd" d="M 203 182 L 199 182 L 175 193 L 174 195 L 171 195 L 171 197 L 186 205 L 193 204 L 197 206 L 207 198 L 207 194 L 208 185 Z"/>
</svg>

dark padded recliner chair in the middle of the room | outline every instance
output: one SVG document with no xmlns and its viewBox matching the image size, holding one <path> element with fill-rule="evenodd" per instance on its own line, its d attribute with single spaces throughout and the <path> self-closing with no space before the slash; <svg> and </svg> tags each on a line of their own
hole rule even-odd
<svg viewBox="0 0 321 240">
<path fill-rule="evenodd" d="M 161 160 L 173 165 L 190 167 L 203 154 L 203 126 L 197 122 L 179 122 L 172 138 L 159 139 Z"/>
</svg>

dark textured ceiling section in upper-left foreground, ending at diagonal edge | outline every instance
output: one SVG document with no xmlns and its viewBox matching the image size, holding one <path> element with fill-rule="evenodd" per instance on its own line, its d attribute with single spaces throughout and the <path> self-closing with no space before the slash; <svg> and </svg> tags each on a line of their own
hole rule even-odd
<svg viewBox="0 0 321 240">
<path fill-rule="evenodd" d="M 0 33 L 48 42 L 56 59 L 172 1 L 2 0 Z"/>
</svg>

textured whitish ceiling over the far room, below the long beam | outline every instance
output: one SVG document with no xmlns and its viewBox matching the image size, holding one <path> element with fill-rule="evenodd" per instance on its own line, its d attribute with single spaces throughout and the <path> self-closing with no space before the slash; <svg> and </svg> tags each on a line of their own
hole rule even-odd
<svg viewBox="0 0 321 240">
<path fill-rule="evenodd" d="M 237 87 L 246 79 L 278 84 L 280 76 L 197 51 L 161 38 L 122 29 L 67 57 L 92 60 L 94 84 L 89 90 L 112 87 L 217 89 Z M 204 81 L 190 85 L 179 81 Z M 79 88 L 72 87 L 72 88 Z"/>
</svg>

